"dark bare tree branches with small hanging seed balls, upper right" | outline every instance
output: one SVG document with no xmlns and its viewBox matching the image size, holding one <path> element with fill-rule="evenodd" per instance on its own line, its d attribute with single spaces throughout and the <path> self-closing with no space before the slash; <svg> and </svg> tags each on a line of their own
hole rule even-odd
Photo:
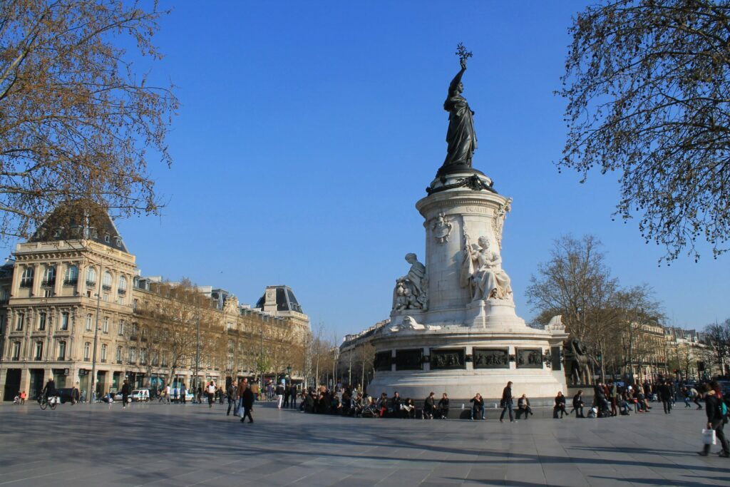
<svg viewBox="0 0 730 487">
<path fill-rule="evenodd" d="M 728 0 L 610 0 L 575 18 L 561 168 L 618 172 L 624 219 L 672 260 L 730 235 Z"/>
</svg>

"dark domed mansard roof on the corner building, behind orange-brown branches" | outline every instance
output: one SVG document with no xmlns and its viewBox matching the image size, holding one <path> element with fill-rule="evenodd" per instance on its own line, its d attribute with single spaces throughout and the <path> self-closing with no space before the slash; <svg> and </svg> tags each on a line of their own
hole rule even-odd
<svg viewBox="0 0 730 487">
<path fill-rule="evenodd" d="M 88 200 L 67 202 L 56 207 L 28 242 L 77 239 L 93 240 L 129 253 L 109 213 L 101 205 Z"/>
</svg>

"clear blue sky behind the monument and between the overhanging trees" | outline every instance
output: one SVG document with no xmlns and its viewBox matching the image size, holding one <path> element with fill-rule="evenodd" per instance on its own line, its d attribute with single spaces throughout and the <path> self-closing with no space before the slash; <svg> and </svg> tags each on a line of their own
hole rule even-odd
<svg viewBox="0 0 730 487">
<path fill-rule="evenodd" d="M 172 169 L 151 167 L 161 218 L 118 222 L 145 275 L 190 277 L 253 304 L 293 288 L 339 338 L 388 317 L 404 254 L 423 260 L 425 196 L 445 156 L 456 44 L 474 57 L 474 165 L 512 196 L 504 269 L 518 314 L 529 277 L 561 234 L 594 234 L 623 285 L 648 283 L 670 323 L 730 317 L 730 256 L 658 266 L 636 223 L 612 221 L 615 175 L 558 174 L 567 28 L 583 2 L 183 1 L 161 21 L 183 106 Z"/>
</svg>

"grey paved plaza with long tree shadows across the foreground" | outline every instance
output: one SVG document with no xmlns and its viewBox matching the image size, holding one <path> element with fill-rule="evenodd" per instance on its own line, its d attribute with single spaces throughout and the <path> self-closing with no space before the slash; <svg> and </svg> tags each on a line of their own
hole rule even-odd
<svg viewBox="0 0 730 487">
<path fill-rule="evenodd" d="M 0 486 L 728 486 L 704 411 L 499 423 L 340 418 L 215 404 L 0 406 Z M 719 447 L 714 447 L 718 450 Z"/>
</svg>

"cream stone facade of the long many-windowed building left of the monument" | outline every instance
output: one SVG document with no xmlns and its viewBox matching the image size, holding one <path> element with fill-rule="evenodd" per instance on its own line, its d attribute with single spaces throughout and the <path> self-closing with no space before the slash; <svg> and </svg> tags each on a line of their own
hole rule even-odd
<svg viewBox="0 0 730 487">
<path fill-rule="evenodd" d="M 155 289 L 160 280 L 139 277 L 135 256 L 111 221 L 107 228 L 110 235 L 96 238 L 84 231 L 79 236 L 89 238 L 20 243 L 15 261 L 0 269 L 2 399 L 12 400 L 18 391 L 34 397 L 49 377 L 59 388 L 88 391 L 94 368 L 96 390 L 104 392 L 120 388 L 124 378 L 135 387 L 161 386 L 172 374 L 169 353 L 155 350 L 139 332 L 142 304 L 165 306 L 172 298 Z M 210 346 L 199 357 L 199 380 L 221 383 L 226 377 L 259 375 L 261 353 L 269 357 L 264 373 L 277 375 L 291 366 L 292 375 L 300 374 L 297 350 L 309 332 L 301 307 L 264 312 L 239 304 L 234 296 L 199 291 L 210 310 L 204 327 L 212 331 Z M 185 363 L 174 370 L 177 383 L 193 382 L 196 367 L 190 357 L 188 350 Z"/>
</svg>

